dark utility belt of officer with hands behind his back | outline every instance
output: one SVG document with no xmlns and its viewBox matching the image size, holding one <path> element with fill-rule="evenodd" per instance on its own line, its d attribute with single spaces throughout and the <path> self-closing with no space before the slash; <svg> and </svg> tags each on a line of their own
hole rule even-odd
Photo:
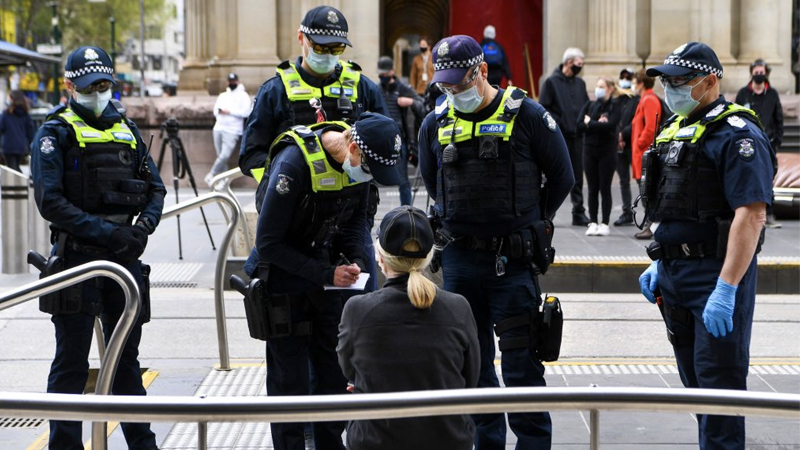
<svg viewBox="0 0 800 450">
<path fill-rule="evenodd" d="M 537 274 L 544 274 L 555 260 L 553 248 L 553 222 L 539 220 L 531 228 L 523 228 L 507 236 L 483 238 L 478 236 L 454 237 L 452 245 L 473 251 L 493 253 L 498 264 L 506 260 L 533 263 Z M 498 276 L 502 275 L 498 266 Z M 504 272 L 504 271 L 503 271 Z"/>
</svg>

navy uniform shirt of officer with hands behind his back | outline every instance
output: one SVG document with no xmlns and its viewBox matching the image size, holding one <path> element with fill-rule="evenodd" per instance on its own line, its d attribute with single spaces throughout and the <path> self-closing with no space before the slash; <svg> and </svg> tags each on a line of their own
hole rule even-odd
<svg viewBox="0 0 800 450">
<path fill-rule="evenodd" d="M 471 122 L 486 120 L 500 106 L 504 92 L 505 90 L 499 89 L 492 103 L 481 111 L 474 114 L 456 111 L 456 116 Z M 436 193 L 436 173 L 441 165 L 442 146 L 439 143 L 438 130 L 439 126 L 436 123 L 435 111 L 433 111 L 425 117 L 419 131 L 420 173 L 425 183 L 425 188 L 431 196 Z M 525 97 L 519 114 L 517 114 L 517 118 L 514 121 L 511 143 L 516 148 L 529 149 L 533 153 L 536 165 L 547 177 L 545 185 L 547 189 L 547 204 L 545 205 L 545 211 L 551 216 L 555 215 L 575 184 L 567 144 L 564 142 L 564 137 L 561 135 L 555 120 L 542 105 Z M 441 207 L 441 205 L 437 205 L 437 207 Z M 529 214 L 516 219 L 513 229 L 519 230 L 527 227 L 539 219 L 541 219 L 540 208 L 533 208 Z M 478 237 L 499 235 L 498 230 L 491 225 L 470 227 L 467 224 L 451 223 L 447 217 L 443 219 L 443 224 L 449 231 L 458 235 Z M 498 227 L 500 226 L 501 224 L 498 224 Z"/>
</svg>

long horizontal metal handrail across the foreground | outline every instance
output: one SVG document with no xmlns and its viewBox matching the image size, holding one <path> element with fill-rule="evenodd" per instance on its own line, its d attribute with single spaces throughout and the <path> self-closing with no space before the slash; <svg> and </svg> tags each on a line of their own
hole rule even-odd
<svg viewBox="0 0 800 450">
<path fill-rule="evenodd" d="M 120 422 L 319 422 L 454 414 L 589 410 L 590 448 L 599 445 L 599 411 L 656 411 L 800 419 L 800 395 L 721 389 L 485 388 L 281 397 L 81 397 L 0 393 L 11 417 Z M 206 436 L 198 436 L 201 450 Z"/>
</svg>

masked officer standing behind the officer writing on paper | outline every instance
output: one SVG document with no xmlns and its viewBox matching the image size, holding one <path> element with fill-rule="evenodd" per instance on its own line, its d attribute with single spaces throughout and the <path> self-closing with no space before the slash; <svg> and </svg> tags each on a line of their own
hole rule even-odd
<svg viewBox="0 0 800 450">
<path fill-rule="evenodd" d="M 380 89 L 361 74 L 361 67 L 352 61 L 339 61 L 346 46 L 352 46 L 347 32 L 347 19 L 336 8 L 318 6 L 306 13 L 297 31 L 301 56 L 295 62 L 282 62 L 277 76 L 261 85 L 256 94 L 239 152 L 242 173 L 260 182 L 270 145 L 292 125 L 325 120 L 352 124 L 367 111 L 389 115 Z M 256 202 L 260 203 L 260 198 Z M 370 235 L 378 202 L 378 188 L 373 186 L 365 236 Z M 371 238 L 367 246 L 367 265 L 374 275 L 377 265 Z M 374 280 L 373 276 L 370 290 L 376 287 Z"/>
</svg>

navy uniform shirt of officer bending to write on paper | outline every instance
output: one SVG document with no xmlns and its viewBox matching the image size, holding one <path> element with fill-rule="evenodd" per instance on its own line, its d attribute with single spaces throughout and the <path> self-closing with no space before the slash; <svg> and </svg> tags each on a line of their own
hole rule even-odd
<svg viewBox="0 0 800 450">
<path fill-rule="evenodd" d="M 330 154 L 326 152 L 325 156 L 334 169 L 342 171 L 342 165 L 334 161 Z M 340 234 L 334 242 L 337 254 L 342 252 L 351 261 L 363 261 L 366 259 L 364 230 L 367 227 L 369 183 L 358 184 L 356 188 L 362 190 L 361 202 L 349 222 L 341 226 Z M 336 269 L 335 266 L 326 265 L 302 253 L 296 248 L 297 244 L 291 242 L 293 212 L 300 208 L 303 198 L 311 192 L 311 173 L 302 150 L 296 145 L 284 148 L 270 162 L 269 186 L 256 228 L 256 248 L 253 254 L 257 261 L 252 260 L 252 255 L 251 261 L 248 261 L 250 270 L 259 261 L 269 263 L 270 279 L 274 276 L 285 280 L 283 275 L 288 274 L 293 280 L 292 290 L 298 293 L 323 284 L 333 284 L 333 272 Z"/>
</svg>

